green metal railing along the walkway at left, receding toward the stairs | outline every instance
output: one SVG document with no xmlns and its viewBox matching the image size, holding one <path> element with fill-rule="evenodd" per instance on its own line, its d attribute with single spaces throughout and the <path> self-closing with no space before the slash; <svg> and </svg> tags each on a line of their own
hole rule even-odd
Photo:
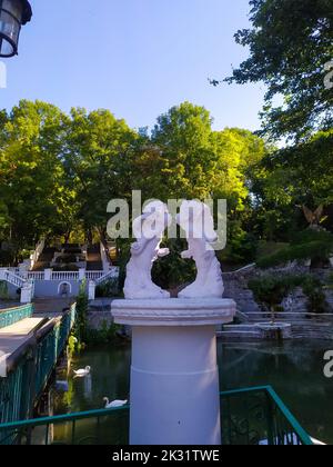
<svg viewBox="0 0 333 467">
<path fill-rule="evenodd" d="M 44 390 L 65 349 L 75 318 L 72 306 L 61 319 L 52 319 L 37 330 L 7 362 L 7 377 L 0 378 L 0 424 L 27 420 Z M 6 444 L 14 438 L 6 437 Z M 0 445 L 2 443 L 0 430 Z M 11 443 L 9 443 L 11 441 Z"/>
</svg>

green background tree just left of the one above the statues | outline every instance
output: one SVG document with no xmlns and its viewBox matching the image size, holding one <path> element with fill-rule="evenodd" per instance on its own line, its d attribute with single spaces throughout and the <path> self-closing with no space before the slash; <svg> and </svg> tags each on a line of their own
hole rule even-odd
<svg viewBox="0 0 333 467">
<path fill-rule="evenodd" d="M 63 166 L 77 193 L 78 221 L 107 237 L 108 202 L 129 199 L 132 148 L 138 135 L 108 110 L 72 109 Z"/>
</svg>

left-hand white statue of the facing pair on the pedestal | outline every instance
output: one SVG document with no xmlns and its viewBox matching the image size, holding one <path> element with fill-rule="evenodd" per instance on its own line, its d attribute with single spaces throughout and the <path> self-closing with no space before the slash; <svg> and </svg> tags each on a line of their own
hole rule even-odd
<svg viewBox="0 0 333 467">
<path fill-rule="evenodd" d="M 124 297 L 127 299 L 170 298 L 151 278 L 153 262 L 169 255 L 168 248 L 160 248 L 164 230 L 172 218 L 162 201 L 150 202 L 142 216 L 133 221 L 133 235 L 137 242 L 131 248 L 131 260 L 127 267 Z"/>
</svg>

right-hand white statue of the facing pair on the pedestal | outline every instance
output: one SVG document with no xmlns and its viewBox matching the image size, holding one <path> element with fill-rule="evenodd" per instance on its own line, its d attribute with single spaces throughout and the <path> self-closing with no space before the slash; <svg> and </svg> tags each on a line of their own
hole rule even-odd
<svg viewBox="0 0 333 467">
<path fill-rule="evenodd" d="M 189 249 L 183 259 L 194 259 L 196 280 L 179 294 L 180 298 L 222 298 L 224 292 L 220 261 L 212 247 L 218 240 L 210 208 L 200 201 L 183 201 L 178 223 L 185 231 Z"/>
</svg>

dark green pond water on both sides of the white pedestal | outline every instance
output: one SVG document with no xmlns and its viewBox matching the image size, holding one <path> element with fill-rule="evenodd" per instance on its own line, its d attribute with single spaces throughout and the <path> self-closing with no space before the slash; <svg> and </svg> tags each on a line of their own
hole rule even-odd
<svg viewBox="0 0 333 467">
<path fill-rule="evenodd" d="M 221 390 L 271 385 L 307 433 L 333 445 L 333 379 L 323 375 L 330 342 L 219 342 Z M 69 391 L 58 395 L 54 413 L 103 408 L 103 397 L 129 398 L 129 346 L 90 349 L 73 360 L 73 368 L 91 366 L 91 376 L 69 378 Z"/>
</svg>

